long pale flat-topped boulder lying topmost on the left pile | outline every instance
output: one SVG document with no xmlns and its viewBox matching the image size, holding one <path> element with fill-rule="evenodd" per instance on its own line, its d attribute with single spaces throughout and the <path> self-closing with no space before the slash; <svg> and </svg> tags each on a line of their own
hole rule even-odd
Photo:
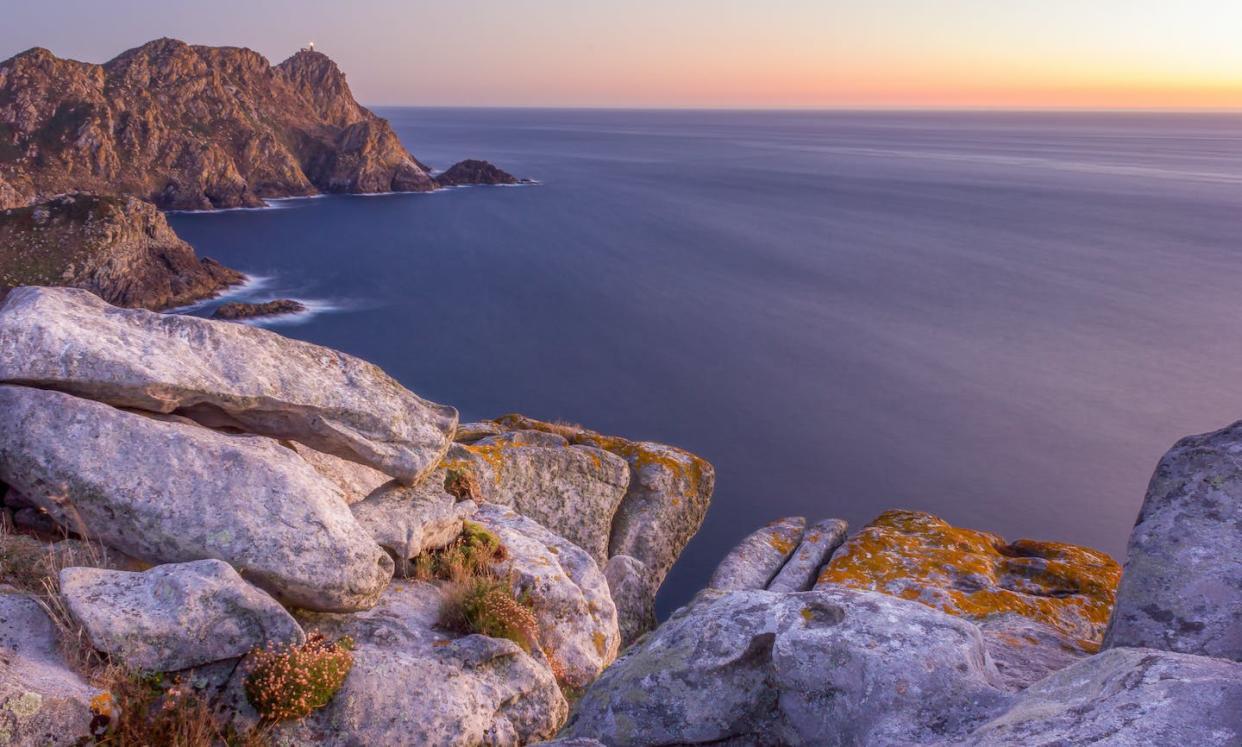
<svg viewBox="0 0 1242 747">
<path fill-rule="evenodd" d="M 122 309 L 76 288 L 16 288 L 0 306 L 0 382 L 301 441 L 412 482 L 457 411 L 379 367 L 258 327 Z"/>
</svg>

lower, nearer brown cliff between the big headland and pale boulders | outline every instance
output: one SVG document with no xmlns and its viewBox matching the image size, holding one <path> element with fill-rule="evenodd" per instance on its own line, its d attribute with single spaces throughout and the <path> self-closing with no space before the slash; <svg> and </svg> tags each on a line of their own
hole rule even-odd
<svg viewBox="0 0 1242 747">
<path fill-rule="evenodd" d="M 117 306 L 169 308 L 242 278 L 195 256 L 159 210 L 134 198 L 62 195 L 0 213 L 0 291 L 72 286 Z"/>
</svg>

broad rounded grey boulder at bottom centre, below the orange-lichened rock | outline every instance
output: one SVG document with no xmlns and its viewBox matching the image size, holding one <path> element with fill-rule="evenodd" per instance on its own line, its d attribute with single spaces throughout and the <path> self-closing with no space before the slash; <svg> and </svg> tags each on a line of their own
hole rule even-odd
<svg viewBox="0 0 1242 747">
<path fill-rule="evenodd" d="M 915 745 L 991 717 L 971 623 L 884 594 L 703 592 L 630 648 L 563 737 L 628 745 Z"/>
</svg>

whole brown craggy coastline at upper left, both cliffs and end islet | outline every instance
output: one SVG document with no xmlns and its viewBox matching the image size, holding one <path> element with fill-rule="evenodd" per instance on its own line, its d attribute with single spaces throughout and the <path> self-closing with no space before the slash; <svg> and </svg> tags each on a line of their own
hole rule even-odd
<svg viewBox="0 0 1242 747">
<path fill-rule="evenodd" d="M 0 216 L 0 288 L 66 285 L 158 309 L 241 280 L 196 259 L 134 198 L 164 210 L 215 210 L 262 206 L 265 198 L 518 181 L 477 160 L 440 179 L 354 99 L 345 75 L 320 52 L 273 66 L 251 50 L 160 39 L 103 65 L 43 48 L 0 62 L 0 209 L 63 214 L 61 195 L 89 193 L 78 199 L 107 214 L 81 220 L 79 209 L 58 220 L 63 250 L 47 249 L 39 234 L 22 241 L 32 225 L 25 214 Z"/>
</svg>

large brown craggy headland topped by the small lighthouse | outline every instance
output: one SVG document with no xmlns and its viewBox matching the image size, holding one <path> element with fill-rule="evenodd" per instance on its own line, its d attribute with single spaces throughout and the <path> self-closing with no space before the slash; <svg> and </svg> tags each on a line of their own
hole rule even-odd
<svg viewBox="0 0 1242 747">
<path fill-rule="evenodd" d="M 0 63 L 0 206 L 71 190 L 211 209 L 435 186 L 318 52 L 272 66 L 161 39 L 104 65 L 43 48 Z"/>
</svg>

